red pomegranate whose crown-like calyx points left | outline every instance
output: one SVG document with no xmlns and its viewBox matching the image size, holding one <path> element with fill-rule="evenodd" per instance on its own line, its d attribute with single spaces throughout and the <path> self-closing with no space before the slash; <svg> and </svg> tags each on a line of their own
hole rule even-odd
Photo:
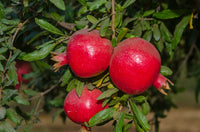
<svg viewBox="0 0 200 132">
<path fill-rule="evenodd" d="M 101 38 L 97 30 L 79 30 L 71 36 L 64 53 L 52 52 L 52 60 L 57 62 L 54 69 L 69 64 L 77 76 L 94 77 L 107 69 L 112 50 L 110 41 Z"/>
</svg>

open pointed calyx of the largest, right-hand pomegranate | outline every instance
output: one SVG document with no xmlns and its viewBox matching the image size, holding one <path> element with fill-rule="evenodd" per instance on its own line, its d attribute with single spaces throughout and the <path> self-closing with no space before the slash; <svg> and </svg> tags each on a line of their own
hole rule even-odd
<svg viewBox="0 0 200 132">
<path fill-rule="evenodd" d="M 157 79 L 154 81 L 153 86 L 156 87 L 162 94 L 167 95 L 166 90 L 170 90 L 170 85 L 174 85 L 168 78 L 158 75 Z"/>
</svg>

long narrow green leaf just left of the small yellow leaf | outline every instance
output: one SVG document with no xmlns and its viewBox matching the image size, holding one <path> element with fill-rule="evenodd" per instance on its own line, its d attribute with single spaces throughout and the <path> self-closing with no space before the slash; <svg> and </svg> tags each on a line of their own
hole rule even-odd
<svg viewBox="0 0 200 132">
<path fill-rule="evenodd" d="M 176 25 L 174 31 L 174 38 L 172 40 L 173 49 L 175 49 L 178 43 L 180 42 L 183 31 L 190 21 L 190 17 L 191 17 L 190 15 L 183 17 L 183 19 Z"/>
</svg>

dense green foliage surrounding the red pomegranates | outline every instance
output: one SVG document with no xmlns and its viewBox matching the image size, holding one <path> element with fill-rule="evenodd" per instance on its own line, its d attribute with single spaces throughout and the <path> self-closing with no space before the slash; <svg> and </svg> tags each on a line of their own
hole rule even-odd
<svg viewBox="0 0 200 132">
<path fill-rule="evenodd" d="M 138 131 L 146 132 L 151 122 L 145 116 L 153 112 L 153 123 L 158 131 L 159 118 L 164 118 L 165 111 L 176 107 L 170 96 L 180 92 L 176 85 L 168 96 L 155 88 L 142 95 L 127 95 L 112 84 L 108 72 L 91 79 L 76 77 L 68 66 L 54 72 L 50 52 L 65 51 L 72 33 L 83 28 L 98 29 L 102 37 L 111 40 L 113 47 L 126 38 L 141 37 L 159 50 L 163 75 L 175 82 L 183 65 L 187 64 L 186 74 L 195 76 L 200 82 L 200 47 L 196 45 L 199 42 L 199 13 L 194 5 L 197 4 L 180 0 L 116 0 L 113 14 L 111 0 L 1 1 L 0 131 L 15 132 L 19 128 L 29 131 L 40 121 L 39 114 L 43 110 L 56 109 L 52 120 L 58 115 L 64 120 L 66 94 L 76 87 L 81 95 L 84 85 L 101 89 L 103 93 L 98 99 L 105 99 L 103 105 L 108 103 L 110 106 L 92 117 L 87 126 L 113 121 L 116 132 L 126 132 L 132 124 Z M 16 59 L 29 61 L 34 68 L 24 76 L 32 81 L 19 90 L 14 87 L 18 83 Z M 197 101 L 199 86 L 195 92 Z"/>
</svg>

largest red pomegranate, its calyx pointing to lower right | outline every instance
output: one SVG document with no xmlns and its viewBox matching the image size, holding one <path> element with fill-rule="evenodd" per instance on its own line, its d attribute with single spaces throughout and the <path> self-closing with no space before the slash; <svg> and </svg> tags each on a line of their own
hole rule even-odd
<svg viewBox="0 0 200 132">
<path fill-rule="evenodd" d="M 160 74 L 161 58 L 156 48 L 142 38 L 129 38 L 114 49 L 110 61 L 110 77 L 123 92 L 136 95 L 151 85 L 166 94 L 167 78 Z M 172 84 L 172 83 L 171 83 Z"/>
</svg>

